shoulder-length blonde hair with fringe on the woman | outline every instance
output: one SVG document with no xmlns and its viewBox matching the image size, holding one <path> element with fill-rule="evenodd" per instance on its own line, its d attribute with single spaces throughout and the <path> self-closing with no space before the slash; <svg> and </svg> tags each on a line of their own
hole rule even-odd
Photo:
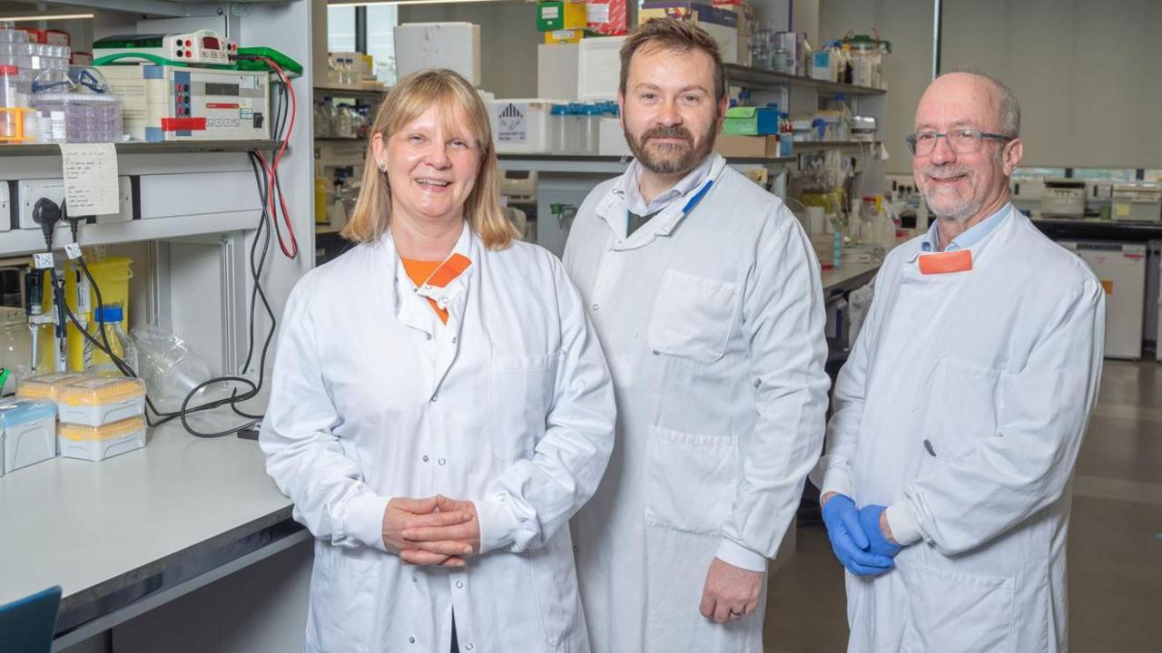
<svg viewBox="0 0 1162 653">
<path fill-rule="evenodd" d="M 397 84 L 375 115 L 372 138 L 383 137 L 385 145 L 393 134 L 419 117 L 428 107 L 439 106 L 445 127 L 467 123 L 480 151 L 480 171 L 476 184 L 464 203 L 464 215 L 485 246 L 503 250 L 517 237 L 516 227 L 504 215 L 500 202 L 500 165 L 493 148 L 493 130 L 488 109 L 476 89 L 462 77 L 450 70 L 414 72 Z M 357 243 L 378 241 L 392 220 L 392 188 L 387 175 L 380 172 L 372 148 L 367 148 L 364 164 L 363 189 L 351 221 L 342 235 Z"/>
</svg>

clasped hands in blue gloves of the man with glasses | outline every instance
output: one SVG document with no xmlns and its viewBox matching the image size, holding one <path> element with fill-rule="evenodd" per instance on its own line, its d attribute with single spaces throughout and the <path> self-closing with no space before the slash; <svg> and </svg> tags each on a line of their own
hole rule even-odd
<svg viewBox="0 0 1162 653">
<path fill-rule="evenodd" d="M 853 574 L 876 576 L 892 568 L 901 546 L 891 537 L 883 505 L 856 509 L 852 497 L 827 493 L 823 497 L 823 522 L 835 558 Z"/>
</svg>

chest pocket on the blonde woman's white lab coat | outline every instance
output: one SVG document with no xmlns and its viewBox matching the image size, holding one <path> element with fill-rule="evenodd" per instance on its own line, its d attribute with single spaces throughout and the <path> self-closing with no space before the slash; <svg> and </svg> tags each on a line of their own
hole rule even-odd
<svg viewBox="0 0 1162 653">
<path fill-rule="evenodd" d="M 532 458 L 545 435 L 560 352 L 544 356 L 501 356 L 490 366 L 489 437 L 500 460 Z"/>
</svg>

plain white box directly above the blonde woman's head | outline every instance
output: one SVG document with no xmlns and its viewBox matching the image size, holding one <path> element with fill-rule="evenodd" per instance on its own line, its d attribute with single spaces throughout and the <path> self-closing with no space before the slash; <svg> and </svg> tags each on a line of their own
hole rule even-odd
<svg viewBox="0 0 1162 653">
<path fill-rule="evenodd" d="M 449 69 L 480 86 L 480 26 L 467 22 L 406 23 L 395 28 L 400 79 L 426 69 Z"/>
</svg>

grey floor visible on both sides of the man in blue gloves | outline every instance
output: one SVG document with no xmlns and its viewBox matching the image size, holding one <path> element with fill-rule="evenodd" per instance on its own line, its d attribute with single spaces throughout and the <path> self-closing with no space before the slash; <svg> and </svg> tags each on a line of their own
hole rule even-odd
<svg viewBox="0 0 1162 653">
<path fill-rule="evenodd" d="M 847 645 L 842 568 L 823 528 L 798 531 L 769 582 L 768 653 Z M 1077 461 L 1069 532 L 1074 653 L 1162 651 L 1162 366 L 1107 360 Z"/>
</svg>

